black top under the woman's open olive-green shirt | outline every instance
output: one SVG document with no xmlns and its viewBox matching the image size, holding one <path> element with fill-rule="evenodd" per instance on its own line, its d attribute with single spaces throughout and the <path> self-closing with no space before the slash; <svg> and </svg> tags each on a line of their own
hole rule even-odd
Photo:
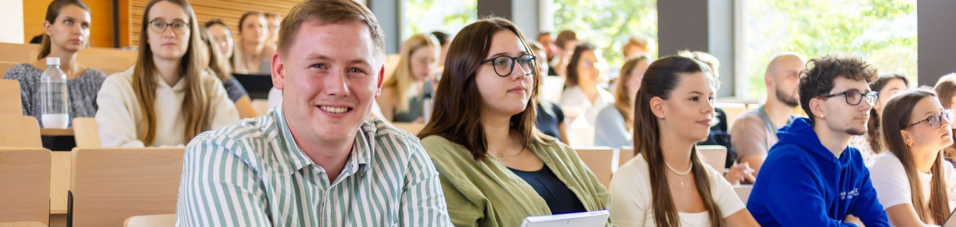
<svg viewBox="0 0 956 227">
<path fill-rule="evenodd" d="M 532 185 L 538 196 L 548 202 L 548 208 L 551 209 L 552 215 L 587 211 L 584 209 L 584 204 L 581 204 L 581 200 L 577 199 L 575 192 L 571 192 L 571 189 L 568 189 L 568 186 L 561 179 L 558 179 L 557 175 L 554 175 L 547 166 L 532 172 L 508 169 L 511 170 L 511 173 L 520 176 L 525 182 Z"/>
</svg>

